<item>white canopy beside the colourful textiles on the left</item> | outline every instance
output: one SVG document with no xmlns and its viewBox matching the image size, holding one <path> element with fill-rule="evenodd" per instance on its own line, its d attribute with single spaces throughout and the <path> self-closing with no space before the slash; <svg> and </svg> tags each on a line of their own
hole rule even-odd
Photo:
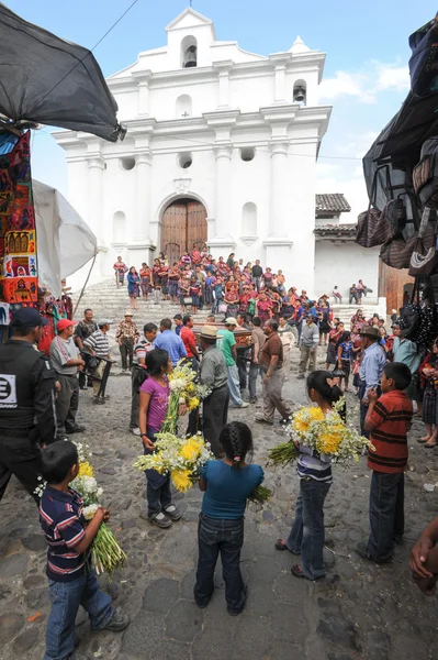
<svg viewBox="0 0 438 660">
<path fill-rule="evenodd" d="M 56 188 L 33 179 L 33 195 L 38 280 L 59 298 L 60 280 L 98 254 L 98 240 Z"/>
</svg>

